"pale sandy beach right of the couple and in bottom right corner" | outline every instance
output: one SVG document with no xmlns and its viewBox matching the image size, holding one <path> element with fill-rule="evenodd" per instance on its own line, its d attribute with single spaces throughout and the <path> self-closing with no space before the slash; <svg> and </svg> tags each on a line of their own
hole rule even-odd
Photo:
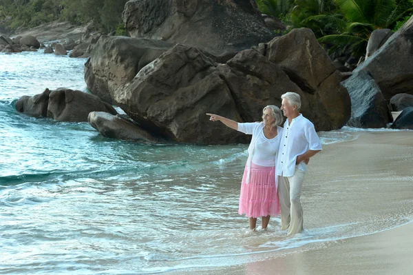
<svg viewBox="0 0 413 275">
<path fill-rule="evenodd" d="M 340 237 L 319 247 L 268 252 L 268 259 L 197 274 L 412 274 L 413 132 L 355 132 L 354 141 L 325 145 L 310 161 L 301 202 L 306 229 L 361 221 L 382 230 Z M 308 196 L 323 197 L 309 204 Z M 387 225 L 403 212 L 405 223 Z M 370 222 L 369 222 L 370 223 Z M 271 240 L 271 234 L 268 235 Z M 171 272 L 171 274 L 189 274 Z"/>
</svg>

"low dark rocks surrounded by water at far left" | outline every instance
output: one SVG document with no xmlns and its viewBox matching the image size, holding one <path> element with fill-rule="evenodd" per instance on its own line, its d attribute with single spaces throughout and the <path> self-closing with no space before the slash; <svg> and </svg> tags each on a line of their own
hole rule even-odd
<svg viewBox="0 0 413 275">
<path fill-rule="evenodd" d="M 87 121 L 89 112 L 100 111 L 118 114 L 98 96 L 78 90 L 46 89 L 34 96 L 21 96 L 16 110 L 30 116 L 49 117 L 56 121 Z"/>
</svg>

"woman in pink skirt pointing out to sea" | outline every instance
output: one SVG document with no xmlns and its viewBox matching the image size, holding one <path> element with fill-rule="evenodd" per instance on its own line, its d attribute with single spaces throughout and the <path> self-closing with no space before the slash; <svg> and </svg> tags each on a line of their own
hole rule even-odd
<svg viewBox="0 0 413 275">
<path fill-rule="evenodd" d="M 250 230 L 255 230 L 257 217 L 262 217 L 262 229 L 266 230 L 271 216 L 279 214 L 275 161 L 282 136 L 282 112 L 275 105 L 262 110 L 262 122 L 237 123 L 216 114 L 207 114 L 211 121 L 221 121 L 229 128 L 252 134 L 248 147 L 244 176 L 242 177 L 239 214 L 249 218 Z"/>
</svg>

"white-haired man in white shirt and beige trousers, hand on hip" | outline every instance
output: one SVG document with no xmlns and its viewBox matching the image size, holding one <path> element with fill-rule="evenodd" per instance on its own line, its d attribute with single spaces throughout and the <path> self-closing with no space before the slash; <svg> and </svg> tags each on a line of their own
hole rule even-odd
<svg viewBox="0 0 413 275">
<path fill-rule="evenodd" d="M 282 230 L 288 230 L 287 234 L 293 235 L 303 230 L 303 209 L 299 197 L 306 174 L 304 160 L 321 151 L 321 142 L 313 123 L 299 113 L 299 94 L 286 92 L 281 99 L 281 110 L 287 119 L 276 165 L 278 196 Z"/>
</svg>

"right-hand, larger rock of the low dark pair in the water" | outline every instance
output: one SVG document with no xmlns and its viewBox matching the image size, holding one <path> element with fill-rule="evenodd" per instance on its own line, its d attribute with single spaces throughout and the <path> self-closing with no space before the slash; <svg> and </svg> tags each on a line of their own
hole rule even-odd
<svg viewBox="0 0 413 275">
<path fill-rule="evenodd" d="M 94 94 L 87 94 L 78 90 L 61 89 L 49 94 L 47 117 L 56 121 L 87 121 L 89 112 L 109 112 L 118 114 L 116 110 L 101 101 Z"/>
</svg>

